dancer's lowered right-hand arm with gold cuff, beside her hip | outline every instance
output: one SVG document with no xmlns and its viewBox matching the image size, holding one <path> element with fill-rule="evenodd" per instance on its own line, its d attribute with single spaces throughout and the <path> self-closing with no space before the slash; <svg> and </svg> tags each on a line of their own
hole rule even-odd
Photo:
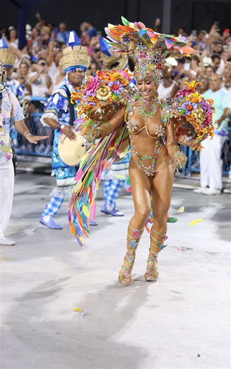
<svg viewBox="0 0 231 369">
<path fill-rule="evenodd" d="M 169 123 L 167 124 L 165 134 L 166 148 L 172 160 L 173 166 L 179 166 L 180 168 L 183 168 L 187 163 L 187 156 L 182 151 L 180 151 L 177 143 L 175 142 L 174 124 L 174 118 L 170 119 Z"/>
</svg>

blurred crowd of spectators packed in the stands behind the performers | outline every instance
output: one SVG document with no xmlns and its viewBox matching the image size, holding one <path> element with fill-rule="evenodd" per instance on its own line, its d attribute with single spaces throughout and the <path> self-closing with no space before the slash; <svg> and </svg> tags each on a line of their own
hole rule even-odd
<svg viewBox="0 0 231 369">
<path fill-rule="evenodd" d="M 4 38 L 17 55 L 14 68 L 8 68 L 9 70 L 6 71 L 8 83 L 11 78 L 16 79 L 19 84 L 18 91 L 23 91 L 24 96 L 47 98 L 63 84 L 65 74 L 58 62 L 66 47 L 69 30 L 63 22 L 58 27 L 46 22 L 39 13 L 36 14 L 36 18 L 37 23 L 34 27 L 26 25 L 27 43 L 22 50 L 19 50 L 19 39 L 15 26 L 0 28 L 0 37 Z M 160 32 L 159 27 L 160 19 L 157 18 L 154 30 Z M 97 70 L 104 68 L 99 46 L 101 32 L 96 31 L 89 20 L 83 21 L 79 28 L 81 43 L 87 47 L 91 59 L 87 75 L 93 75 Z M 185 36 L 186 40 L 191 42 L 195 52 L 191 57 L 179 58 L 176 66 L 169 64 L 163 66 L 159 87 L 160 99 L 173 97 L 179 89 L 182 89 L 184 82 L 191 80 L 201 81 L 203 86 L 198 86 L 198 90 L 200 93 L 205 93 L 210 88 L 210 80 L 214 74 L 220 76 L 222 89 L 231 96 L 230 29 L 225 28 L 221 32 L 215 23 L 209 32 L 193 30 L 188 35 L 186 30 L 180 27 L 172 34 Z M 129 63 L 129 67 L 132 71 L 132 63 Z M 21 101 L 23 101 L 22 98 Z"/>
</svg>

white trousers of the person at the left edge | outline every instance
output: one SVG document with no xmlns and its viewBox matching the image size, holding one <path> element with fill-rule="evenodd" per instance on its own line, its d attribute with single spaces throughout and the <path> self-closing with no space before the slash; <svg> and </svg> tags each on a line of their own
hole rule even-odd
<svg viewBox="0 0 231 369">
<path fill-rule="evenodd" d="M 14 195 L 14 166 L 12 160 L 0 164 L 0 235 L 8 225 Z"/>
</svg>

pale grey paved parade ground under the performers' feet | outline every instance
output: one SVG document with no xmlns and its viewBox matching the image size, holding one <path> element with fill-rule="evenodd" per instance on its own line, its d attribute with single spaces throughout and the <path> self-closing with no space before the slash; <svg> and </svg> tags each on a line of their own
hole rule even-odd
<svg viewBox="0 0 231 369">
<path fill-rule="evenodd" d="M 100 213 L 81 249 L 67 229 L 67 203 L 57 221 L 39 223 L 55 179 L 18 173 L 1 247 L 2 369 L 229 369 L 230 194 L 173 189 L 168 247 L 159 279 L 144 280 L 149 235 L 141 239 L 133 282 L 117 283 L 125 255 L 130 194 L 117 202 L 122 218 Z M 203 221 L 189 226 L 191 221 Z M 89 314 L 79 317 L 75 307 Z"/>
</svg>

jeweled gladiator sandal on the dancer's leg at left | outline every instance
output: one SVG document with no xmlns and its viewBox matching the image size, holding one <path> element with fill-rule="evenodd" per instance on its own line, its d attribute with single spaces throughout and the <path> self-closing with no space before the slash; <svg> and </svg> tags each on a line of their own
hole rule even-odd
<svg viewBox="0 0 231 369">
<path fill-rule="evenodd" d="M 131 223 L 129 223 L 127 233 L 127 252 L 118 277 L 119 282 L 123 286 L 128 286 L 132 281 L 131 274 L 135 262 L 135 251 L 137 249 L 143 230 L 144 228 L 142 229 L 133 228 Z M 132 235 L 130 234 L 131 231 L 133 232 Z"/>
</svg>

